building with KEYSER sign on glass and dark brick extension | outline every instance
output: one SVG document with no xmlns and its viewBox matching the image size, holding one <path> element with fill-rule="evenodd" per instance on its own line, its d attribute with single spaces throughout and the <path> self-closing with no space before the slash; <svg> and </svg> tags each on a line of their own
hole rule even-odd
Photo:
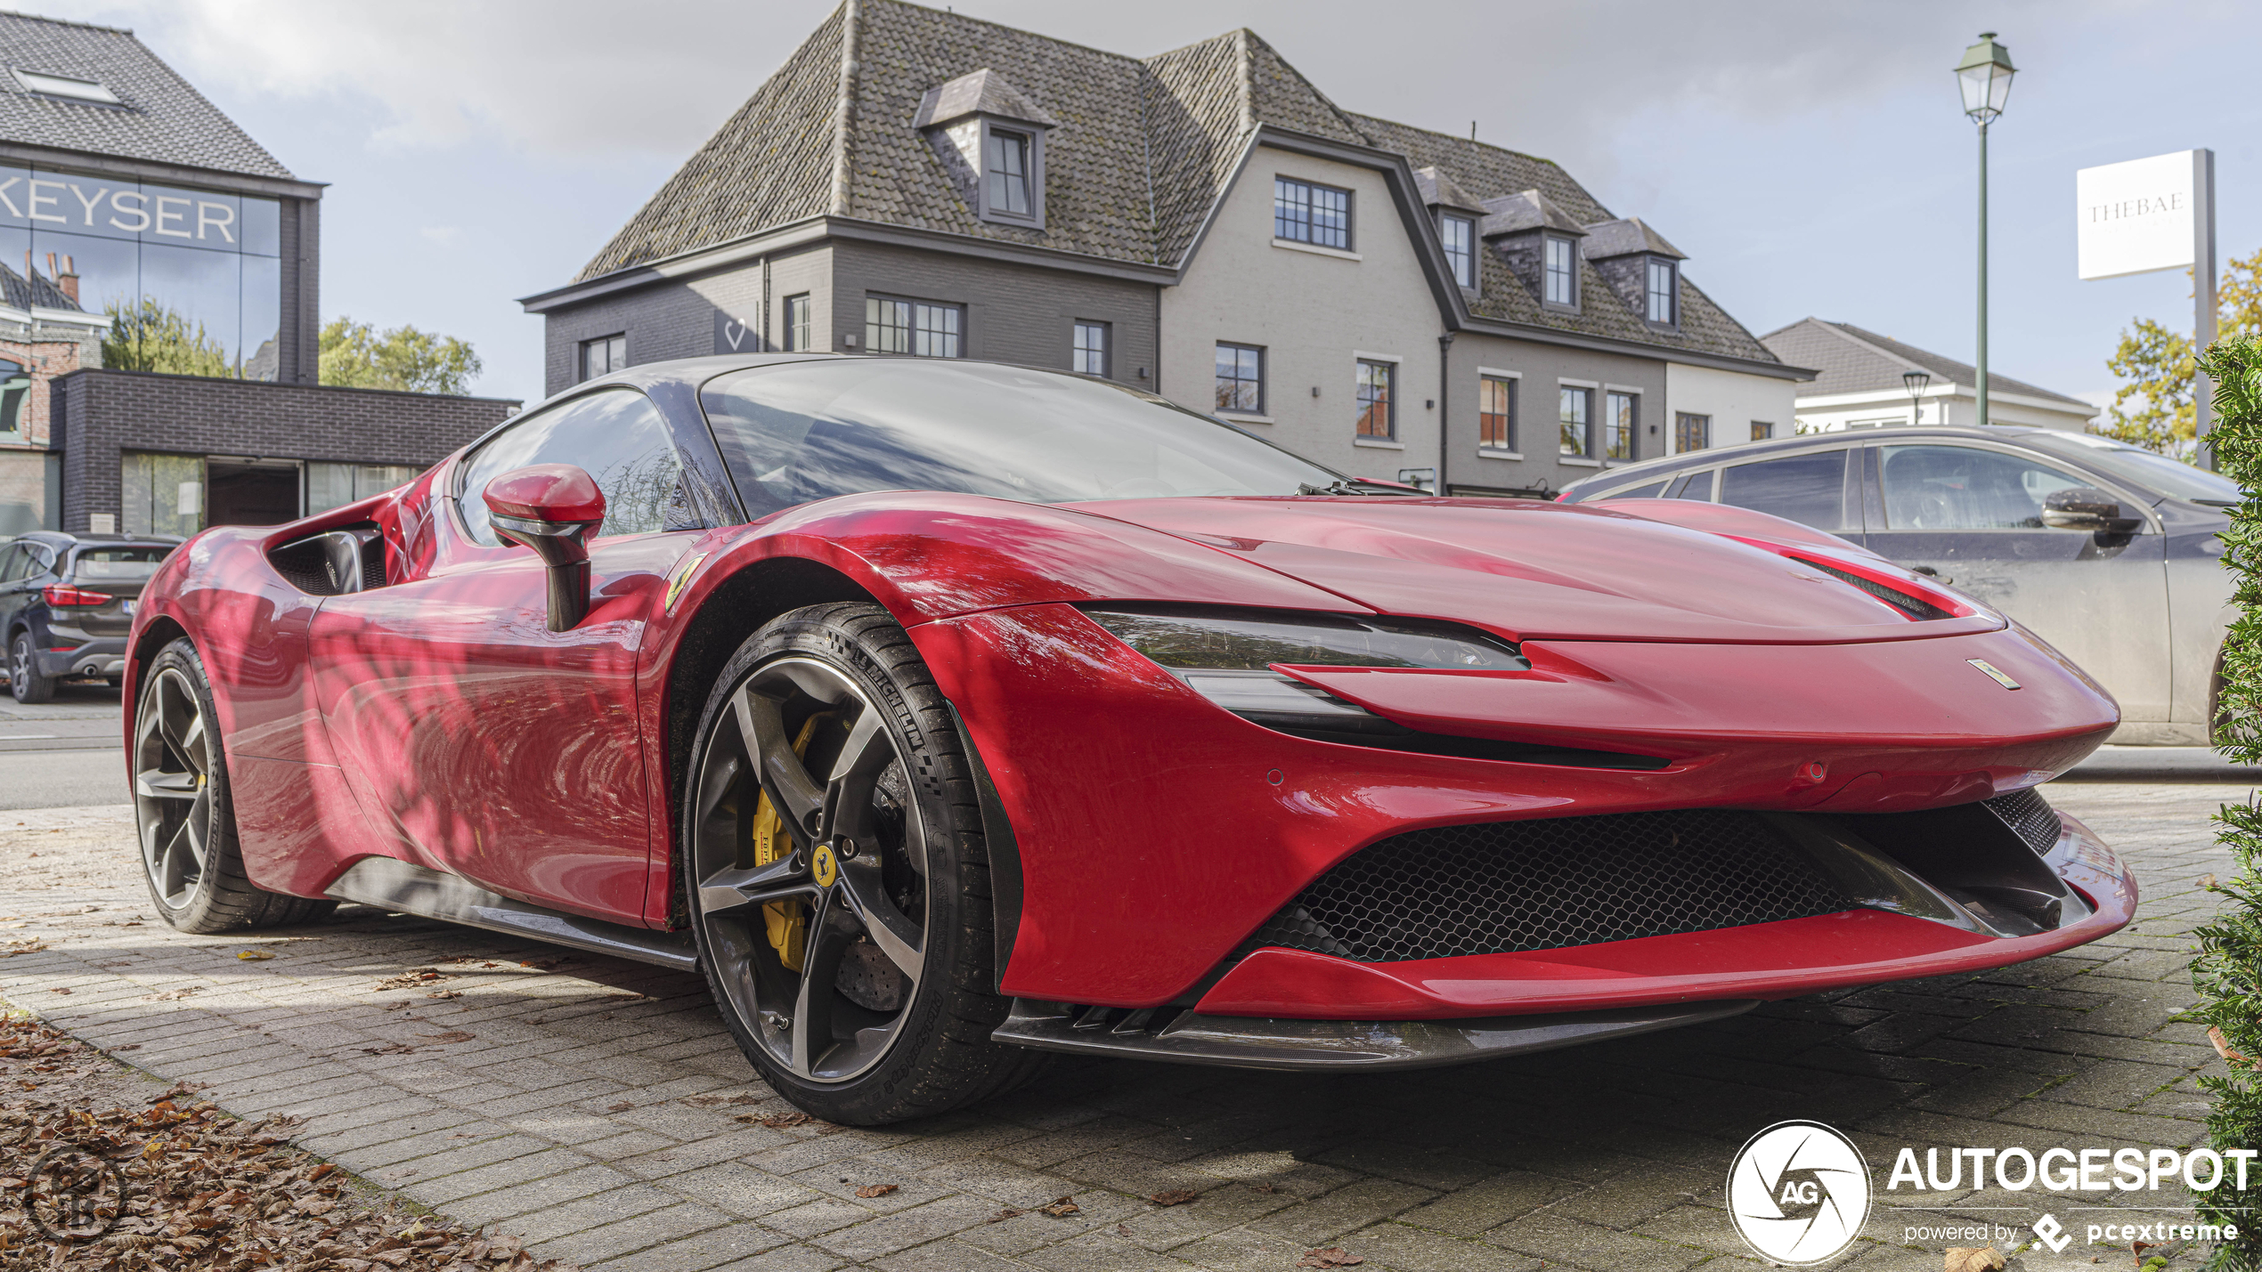
<svg viewBox="0 0 2262 1272">
<path fill-rule="evenodd" d="M 516 407 L 317 384 L 321 190 L 133 32 L 0 14 L 0 535 L 292 520 Z M 201 375 L 104 368 L 136 321 Z"/>
</svg>

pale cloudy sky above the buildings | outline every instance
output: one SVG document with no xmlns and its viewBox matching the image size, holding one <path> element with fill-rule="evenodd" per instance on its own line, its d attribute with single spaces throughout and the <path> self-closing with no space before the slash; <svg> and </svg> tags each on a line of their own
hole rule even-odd
<svg viewBox="0 0 2262 1272">
<path fill-rule="evenodd" d="M 832 0 L 41 0 L 133 27 L 292 172 L 328 181 L 323 314 L 480 348 L 541 393 L 566 282 Z M 1950 68 L 2020 66 L 1993 129 L 1993 364 L 2113 386 L 2119 328 L 2187 330 L 2190 282 L 2074 280 L 2074 169 L 2217 151 L 2226 258 L 2262 251 L 2262 7 L 2160 2 L 966 0 L 1129 54 L 1246 25 L 1339 106 L 1565 165 L 1690 255 L 1753 332 L 1807 314 L 1972 357 L 1975 138 Z M 2242 88 L 2244 86 L 2244 88 Z"/>
</svg>

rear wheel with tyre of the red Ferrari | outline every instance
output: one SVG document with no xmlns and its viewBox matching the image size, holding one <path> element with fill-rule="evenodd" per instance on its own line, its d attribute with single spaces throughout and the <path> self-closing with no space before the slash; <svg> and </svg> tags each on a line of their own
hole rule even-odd
<svg viewBox="0 0 2262 1272">
<path fill-rule="evenodd" d="M 337 901 L 285 897 L 244 877 L 213 682 L 185 637 L 149 662 L 133 707 L 133 820 L 143 879 L 170 926 L 215 933 L 312 922 Z"/>
</svg>

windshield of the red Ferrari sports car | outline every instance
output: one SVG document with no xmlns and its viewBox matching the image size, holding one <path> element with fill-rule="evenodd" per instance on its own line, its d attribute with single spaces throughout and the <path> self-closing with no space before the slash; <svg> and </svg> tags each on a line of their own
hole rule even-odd
<svg viewBox="0 0 2262 1272">
<path fill-rule="evenodd" d="M 1158 398 L 1018 366 L 792 361 L 719 375 L 699 402 L 753 517 L 862 490 L 1065 504 L 1341 481 Z"/>
</svg>

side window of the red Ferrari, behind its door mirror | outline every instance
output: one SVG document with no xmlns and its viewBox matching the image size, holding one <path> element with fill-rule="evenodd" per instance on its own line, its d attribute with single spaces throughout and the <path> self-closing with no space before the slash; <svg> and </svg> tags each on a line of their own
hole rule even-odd
<svg viewBox="0 0 2262 1272">
<path fill-rule="evenodd" d="M 536 411 L 464 459 L 457 506 L 475 542 L 502 542 L 480 497 L 486 483 L 529 463 L 579 463 L 597 481 L 604 490 L 597 538 L 663 531 L 670 504 L 681 497 L 683 461 L 658 407 L 633 389 L 604 389 Z"/>
</svg>

